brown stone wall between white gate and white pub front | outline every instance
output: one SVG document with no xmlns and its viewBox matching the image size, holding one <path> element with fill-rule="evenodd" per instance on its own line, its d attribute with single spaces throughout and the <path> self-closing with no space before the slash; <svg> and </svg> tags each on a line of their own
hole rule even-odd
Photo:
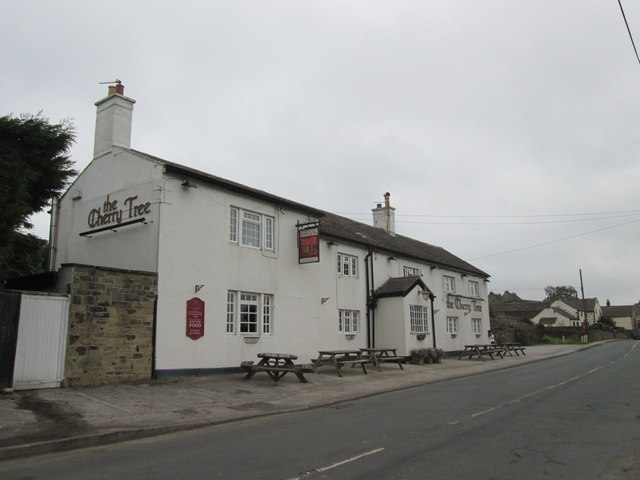
<svg viewBox="0 0 640 480">
<path fill-rule="evenodd" d="M 65 385 L 150 379 L 157 275 L 84 265 L 63 270 L 70 279 Z"/>
</svg>

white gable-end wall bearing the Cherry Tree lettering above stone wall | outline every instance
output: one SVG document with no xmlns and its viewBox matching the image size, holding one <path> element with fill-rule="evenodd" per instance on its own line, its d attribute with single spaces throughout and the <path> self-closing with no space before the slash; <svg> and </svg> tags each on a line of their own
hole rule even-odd
<svg viewBox="0 0 640 480">
<path fill-rule="evenodd" d="M 161 167 L 127 151 L 115 149 L 114 152 L 91 162 L 60 199 L 54 228 L 54 268 L 58 269 L 64 263 L 81 263 L 156 270 L 161 201 L 157 186 Z M 110 213 L 105 212 L 107 199 L 115 207 L 114 215 L 104 225 L 92 224 L 97 215 Z M 138 208 L 137 214 L 129 217 L 129 213 L 136 213 L 132 209 L 147 202 L 150 204 L 148 213 Z M 146 224 L 118 228 L 118 220 L 126 222 L 142 217 Z M 102 226 L 112 226 L 116 231 L 79 235 Z"/>
</svg>

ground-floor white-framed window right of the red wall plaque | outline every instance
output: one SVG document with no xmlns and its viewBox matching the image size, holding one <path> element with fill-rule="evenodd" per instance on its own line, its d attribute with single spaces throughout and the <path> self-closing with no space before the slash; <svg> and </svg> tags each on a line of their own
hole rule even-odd
<svg viewBox="0 0 640 480">
<path fill-rule="evenodd" d="M 228 334 L 271 335 L 273 333 L 273 295 L 227 292 Z"/>
</svg>

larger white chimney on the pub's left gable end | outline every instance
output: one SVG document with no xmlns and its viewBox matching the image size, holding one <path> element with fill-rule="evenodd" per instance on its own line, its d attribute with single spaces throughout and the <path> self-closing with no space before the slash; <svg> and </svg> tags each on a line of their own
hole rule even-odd
<svg viewBox="0 0 640 480">
<path fill-rule="evenodd" d="M 116 80 L 109 86 L 109 94 L 96 102 L 96 136 L 93 158 L 111 150 L 113 145 L 131 146 L 131 118 L 135 100 L 124 96 L 124 85 Z"/>
</svg>

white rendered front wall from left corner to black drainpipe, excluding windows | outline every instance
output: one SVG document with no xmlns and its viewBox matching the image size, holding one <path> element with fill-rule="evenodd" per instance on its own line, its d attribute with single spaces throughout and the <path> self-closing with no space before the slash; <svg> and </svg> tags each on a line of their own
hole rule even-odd
<svg viewBox="0 0 640 480">
<path fill-rule="evenodd" d="M 297 354 L 299 361 L 309 362 L 320 349 L 366 346 L 363 263 L 361 278 L 344 279 L 340 288 L 336 288 L 335 268 L 339 247 L 321 241 L 320 263 L 298 264 L 295 225 L 306 221 L 307 214 L 204 183 L 184 189 L 179 179 L 167 178 L 164 188 L 167 201 L 161 210 L 158 268 L 159 370 L 237 367 L 269 351 Z M 231 206 L 275 218 L 275 252 L 229 241 Z M 195 285 L 204 287 L 196 294 Z M 226 333 L 229 290 L 274 296 L 272 335 L 260 335 L 257 343 L 248 344 L 244 335 Z M 193 296 L 205 302 L 205 335 L 198 340 L 185 335 L 185 305 Z M 361 331 L 353 340 L 338 332 L 338 308 L 361 311 Z"/>
</svg>

